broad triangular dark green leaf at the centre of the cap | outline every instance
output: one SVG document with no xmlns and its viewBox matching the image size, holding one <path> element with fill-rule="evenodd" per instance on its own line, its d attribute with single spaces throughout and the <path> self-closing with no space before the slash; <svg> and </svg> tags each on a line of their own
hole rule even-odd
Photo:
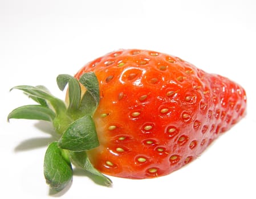
<svg viewBox="0 0 256 199">
<path fill-rule="evenodd" d="M 71 151 L 91 150 L 99 146 L 95 123 L 91 115 L 85 115 L 71 123 L 63 132 L 59 146 Z"/>
</svg>

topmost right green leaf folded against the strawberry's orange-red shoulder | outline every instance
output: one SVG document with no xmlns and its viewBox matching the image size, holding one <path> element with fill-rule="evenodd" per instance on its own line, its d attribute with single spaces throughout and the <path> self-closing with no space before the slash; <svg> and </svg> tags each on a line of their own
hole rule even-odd
<svg viewBox="0 0 256 199">
<path fill-rule="evenodd" d="M 94 97 L 96 101 L 96 106 L 99 105 L 100 101 L 100 89 L 99 89 L 99 81 L 97 81 L 97 77 L 93 72 L 84 73 L 79 81 L 83 86 L 86 87 L 87 92 L 91 94 L 92 97 Z"/>
</svg>

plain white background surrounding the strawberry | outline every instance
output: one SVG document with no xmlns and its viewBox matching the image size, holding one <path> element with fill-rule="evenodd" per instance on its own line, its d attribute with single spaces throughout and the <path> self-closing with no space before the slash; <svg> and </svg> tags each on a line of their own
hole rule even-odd
<svg viewBox="0 0 256 199">
<path fill-rule="evenodd" d="M 256 198 L 256 3 L 254 0 L 35 1 L 0 0 L 0 198 Z M 60 73 L 119 48 L 176 55 L 239 82 L 247 115 L 197 160 L 149 180 L 111 177 L 112 188 L 80 171 L 60 194 L 43 177 L 50 123 L 11 120 L 32 103 L 15 85 L 47 86 L 56 96 Z"/>
</svg>

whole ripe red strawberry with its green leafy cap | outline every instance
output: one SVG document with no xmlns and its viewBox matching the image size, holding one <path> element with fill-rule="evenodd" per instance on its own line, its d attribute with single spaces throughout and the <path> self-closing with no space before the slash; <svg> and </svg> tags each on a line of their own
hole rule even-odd
<svg viewBox="0 0 256 199">
<path fill-rule="evenodd" d="M 155 51 L 111 52 L 86 64 L 75 78 L 60 75 L 57 82 L 61 90 L 69 86 L 67 107 L 46 88 L 17 86 L 40 105 L 9 115 L 52 121 L 62 135 L 44 160 L 46 180 L 55 190 L 70 179 L 60 187 L 52 183 L 47 167 L 52 159 L 67 170 L 72 164 L 82 167 L 107 185 L 111 181 L 100 172 L 131 179 L 163 176 L 196 159 L 246 113 L 240 85 Z M 52 151 L 58 157 L 49 159 Z"/>
</svg>

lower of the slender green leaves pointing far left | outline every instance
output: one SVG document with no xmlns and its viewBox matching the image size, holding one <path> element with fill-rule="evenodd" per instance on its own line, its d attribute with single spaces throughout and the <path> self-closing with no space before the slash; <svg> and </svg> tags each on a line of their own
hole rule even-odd
<svg viewBox="0 0 256 199">
<path fill-rule="evenodd" d="M 55 113 L 48 107 L 44 107 L 42 105 L 26 105 L 11 111 L 8 115 L 8 121 L 11 118 L 52 121 L 55 118 Z"/>
</svg>

